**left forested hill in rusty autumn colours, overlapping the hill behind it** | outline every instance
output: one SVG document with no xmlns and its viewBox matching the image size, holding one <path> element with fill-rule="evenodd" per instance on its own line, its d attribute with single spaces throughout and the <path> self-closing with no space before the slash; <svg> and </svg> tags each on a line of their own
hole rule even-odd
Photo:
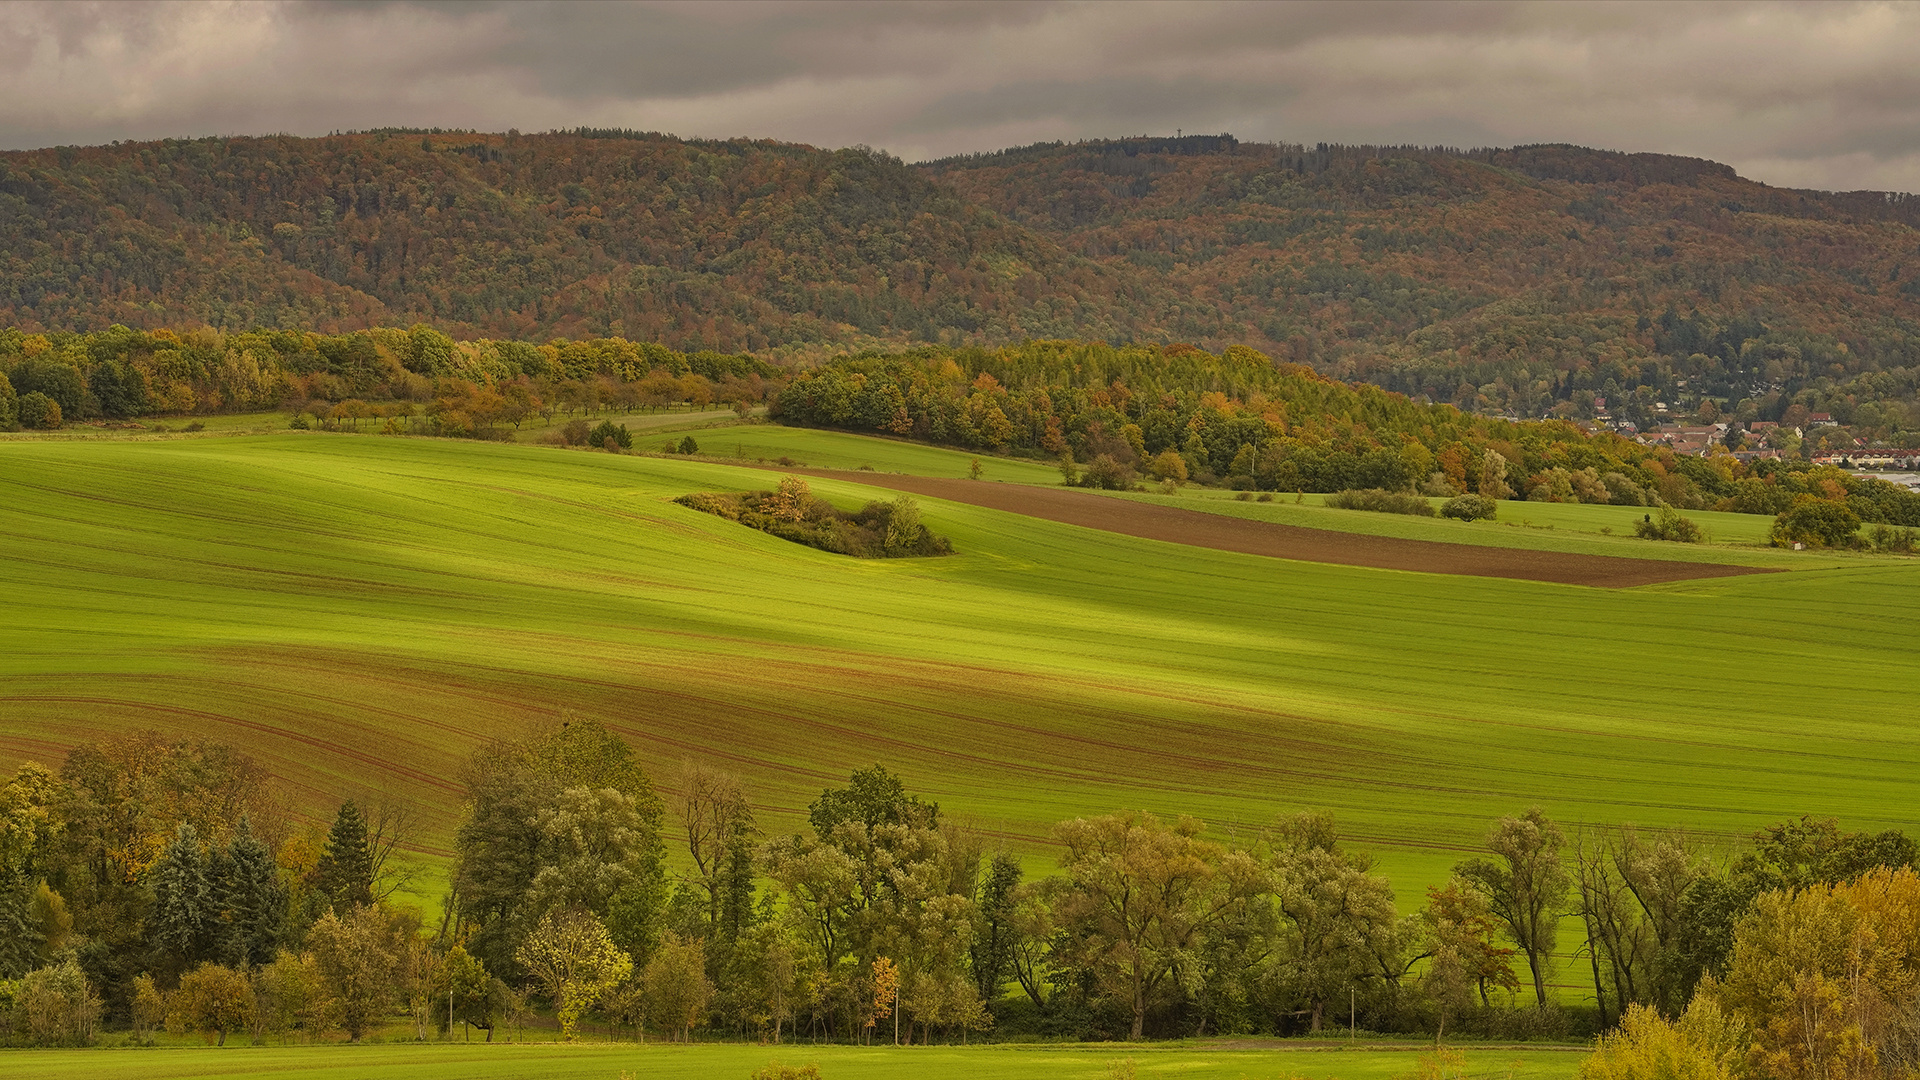
<svg viewBox="0 0 1920 1080">
<path fill-rule="evenodd" d="M 868 150 L 369 133 L 0 154 L 0 325 L 27 331 L 1162 338 L 1137 279 Z"/>
</svg>

